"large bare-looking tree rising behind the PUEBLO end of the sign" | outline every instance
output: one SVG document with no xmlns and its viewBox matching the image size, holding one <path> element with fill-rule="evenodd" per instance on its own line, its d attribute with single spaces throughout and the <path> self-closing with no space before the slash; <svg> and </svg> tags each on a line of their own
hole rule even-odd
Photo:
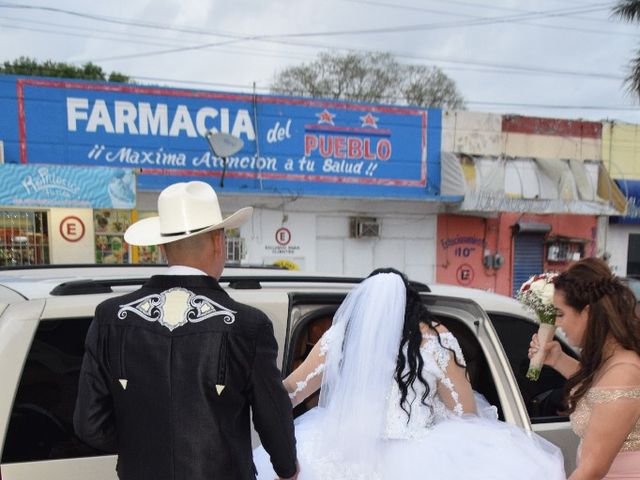
<svg viewBox="0 0 640 480">
<path fill-rule="evenodd" d="M 438 67 L 406 65 L 390 53 L 320 53 L 276 73 L 271 91 L 303 97 L 464 108 L 455 82 Z"/>
</svg>

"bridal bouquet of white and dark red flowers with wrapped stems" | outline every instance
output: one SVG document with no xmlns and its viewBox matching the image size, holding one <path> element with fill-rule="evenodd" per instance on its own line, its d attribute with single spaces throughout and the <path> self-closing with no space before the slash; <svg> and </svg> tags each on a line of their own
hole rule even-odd
<svg viewBox="0 0 640 480">
<path fill-rule="evenodd" d="M 538 380 L 544 360 L 544 346 L 553 340 L 556 331 L 556 308 L 553 306 L 553 281 L 557 273 L 541 273 L 524 282 L 518 291 L 518 300 L 533 311 L 540 320 L 538 341 L 540 349 L 529 362 L 527 378 Z"/>
</svg>

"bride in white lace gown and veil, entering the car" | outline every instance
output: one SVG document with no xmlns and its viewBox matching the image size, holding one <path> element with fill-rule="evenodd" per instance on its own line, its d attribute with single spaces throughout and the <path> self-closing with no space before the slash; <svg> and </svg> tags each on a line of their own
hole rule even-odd
<svg viewBox="0 0 640 480">
<path fill-rule="evenodd" d="M 455 337 L 397 270 L 347 295 L 284 384 L 294 406 L 322 387 L 296 421 L 300 480 L 565 478 L 555 446 L 482 405 Z M 254 461 L 277 477 L 262 447 Z"/>
</svg>

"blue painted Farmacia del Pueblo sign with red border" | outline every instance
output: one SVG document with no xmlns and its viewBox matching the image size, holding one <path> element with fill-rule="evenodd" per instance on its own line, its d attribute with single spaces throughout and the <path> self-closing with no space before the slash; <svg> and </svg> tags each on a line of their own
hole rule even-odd
<svg viewBox="0 0 640 480">
<path fill-rule="evenodd" d="M 302 98 L 0 78 L 7 162 L 133 168 L 138 188 L 217 186 L 207 131 L 244 141 L 224 191 L 434 199 L 441 111 Z M 5 108 L 5 102 L 7 108 Z"/>
</svg>

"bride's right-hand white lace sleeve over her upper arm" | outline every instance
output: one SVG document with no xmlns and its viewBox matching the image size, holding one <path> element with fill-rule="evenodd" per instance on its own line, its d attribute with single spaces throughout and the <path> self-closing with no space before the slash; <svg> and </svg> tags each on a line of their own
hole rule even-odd
<svg viewBox="0 0 640 480">
<path fill-rule="evenodd" d="M 427 340 L 432 347 L 435 361 L 440 368 L 438 395 L 445 406 L 455 415 L 476 413 L 476 403 L 471 384 L 467 378 L 466 362 L 458 341 L 451 332 L 440 333 Z M 455 355 L 455 361 L 452 361 Z"/>
</svg>

